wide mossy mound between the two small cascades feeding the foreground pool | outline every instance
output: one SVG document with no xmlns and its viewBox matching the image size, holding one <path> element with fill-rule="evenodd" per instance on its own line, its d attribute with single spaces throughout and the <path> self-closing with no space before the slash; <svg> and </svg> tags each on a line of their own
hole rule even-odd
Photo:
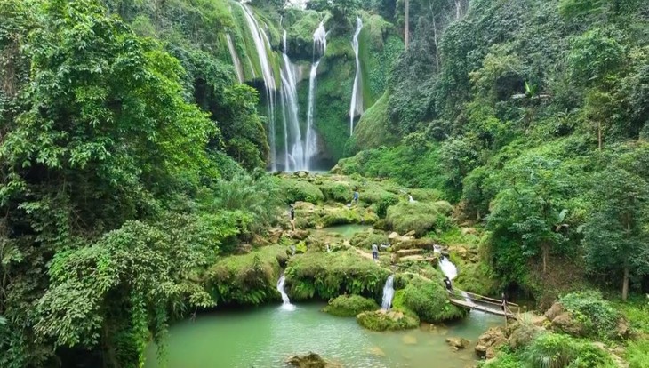
<svg viewBox="0 0 649 368">
<path fill-rule="evenodd" d="M 389 270 L 351 250 L 307 252 L 289 260 L 285 276 L 294 300 L 328 300 L 344 293 L 378 299 Z"/>
</svg>

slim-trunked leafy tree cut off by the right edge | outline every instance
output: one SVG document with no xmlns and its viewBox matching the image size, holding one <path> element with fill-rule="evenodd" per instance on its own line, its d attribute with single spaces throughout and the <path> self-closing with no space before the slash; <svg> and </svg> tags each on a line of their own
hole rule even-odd
<svg viewBox="0 0 649 368">
<path fill-rule="evenodd" d="M 630 276 L 649 274 L 649 183 L 634 168 L 637 161 L 625 156 L 613 157 L 595 177 L 583 239 L 591 272 L 621 275 L 622 300 Z"/>
</svg>

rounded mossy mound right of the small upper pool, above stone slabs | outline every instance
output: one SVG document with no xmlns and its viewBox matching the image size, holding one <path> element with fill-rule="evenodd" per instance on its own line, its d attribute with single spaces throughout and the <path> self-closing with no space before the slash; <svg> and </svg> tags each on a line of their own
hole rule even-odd
<svg viewBox="0 0 649 368">
<path fill-rule="evenodd" d="M 388 208 L 386 220 L 399 234 L 414 231 L 422 236 L 433 229 L 445 230 L 451 225 L 448 218 L 453 207 L 447 202 L 400 202 Z"/>
</svg>

